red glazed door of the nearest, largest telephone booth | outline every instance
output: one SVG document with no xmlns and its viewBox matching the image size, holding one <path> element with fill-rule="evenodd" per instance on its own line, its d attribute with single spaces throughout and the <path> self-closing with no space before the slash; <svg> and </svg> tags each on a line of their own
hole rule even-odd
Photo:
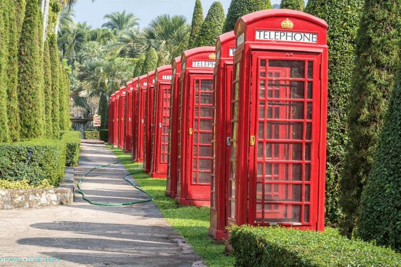
<svg viewBox="0 0 401 267">
<path fill-rule="evenodd" d="M 308 228 L 317 223 L 320 56 L 253 52 L 252 61 L 249 223 Z"/>
</svg>

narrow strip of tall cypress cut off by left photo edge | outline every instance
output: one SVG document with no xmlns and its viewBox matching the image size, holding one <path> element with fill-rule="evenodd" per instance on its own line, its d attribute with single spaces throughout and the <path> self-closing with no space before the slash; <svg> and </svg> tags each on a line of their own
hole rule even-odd
<svg viewBox="0 0 401 267">
<path fill-rule="evenodd" d="M 9 140 L 7 117 L 7 62 L 8 62 L 8 29 L 5 21 L 8 21 L 6 9 L 7 0 L 0 0 L 0 142 Z M 5 15 L 5 16 L 4 16 Z M 6 18 L 5 18 L 6 17 Z"/>
</svg>

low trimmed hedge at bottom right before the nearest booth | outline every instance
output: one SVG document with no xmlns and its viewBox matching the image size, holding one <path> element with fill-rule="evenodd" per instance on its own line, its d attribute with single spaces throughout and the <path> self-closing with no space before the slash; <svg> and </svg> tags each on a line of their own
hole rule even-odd
<svg viewBox="0 0 401 267">
<path fill-rule="evenodd" d="M 401 266 L 399 253 L 373 243 L 349 240 L 333 228 L 321 233 L 283 227 L 233 226 L 230 244 L 237 267 Z"/>
</svg>

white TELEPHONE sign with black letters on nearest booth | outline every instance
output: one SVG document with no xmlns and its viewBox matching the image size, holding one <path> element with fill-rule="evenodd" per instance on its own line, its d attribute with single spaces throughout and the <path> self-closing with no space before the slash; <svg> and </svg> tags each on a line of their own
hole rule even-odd
<svg viewBox="0 0 401 267">
<path fill-rule="evenodd" d="M 256 31 L 256 40 L 317 43 L 316 33 L 290 31 Z"/>
</svg>

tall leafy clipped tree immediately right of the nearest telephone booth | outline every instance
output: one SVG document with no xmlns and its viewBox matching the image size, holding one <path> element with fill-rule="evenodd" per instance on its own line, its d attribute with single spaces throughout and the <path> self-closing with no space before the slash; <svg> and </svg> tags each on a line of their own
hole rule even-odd
<svg viewBox="0 0 401 267">
<path fill-rule="evenodd" d="M 327 32 L 330 57 L 325 204 L 329 223 L 338 222 L 341 210 L 339 182 L 348 140 L 347 113 L 362 6 L 363 0 L 309 0 L 305 8 L 305 12 L 330 25 Z"/>
</svg>

